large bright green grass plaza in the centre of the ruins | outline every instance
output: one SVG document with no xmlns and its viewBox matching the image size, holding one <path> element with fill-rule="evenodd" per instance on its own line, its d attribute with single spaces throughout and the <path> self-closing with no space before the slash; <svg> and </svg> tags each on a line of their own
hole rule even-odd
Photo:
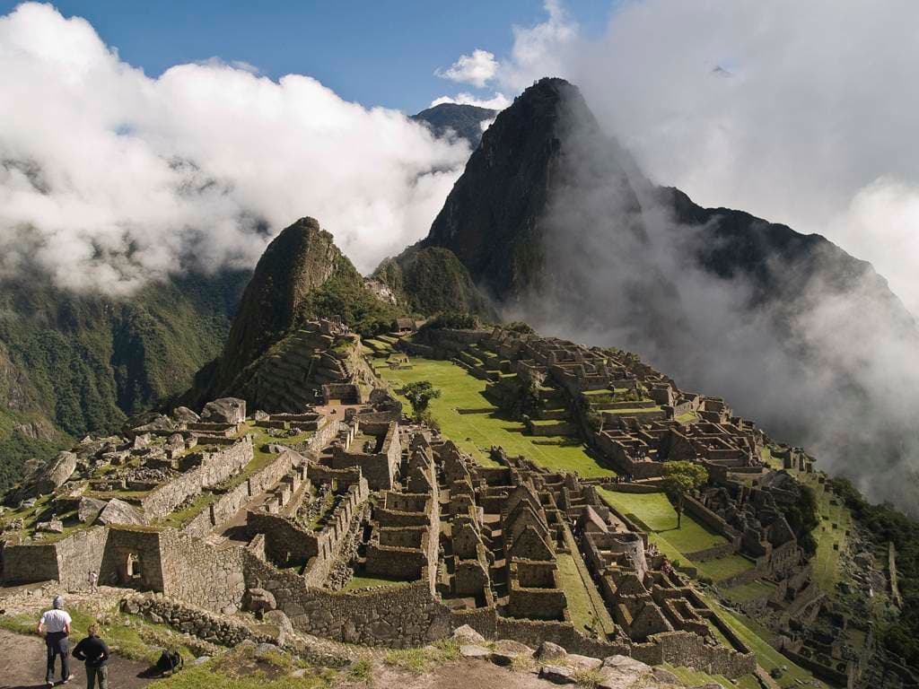
<svg viewBox="0 0 919 689">
<path fill-rule="evenodd" d="M 587 454 L 577 438 L 562 435 L 524 435 L 524 424 L 503 416 L 482 394 L 485 381 L 471 376 L 466 369 L 449 361 L 410 357 L 404 370 L 377 367 L 377 373 L 392 386 L 400 400 L 399 390 L 406 383 L 428 380 L 440 390 L 431 401 L 430 411 L 441 433 L 468 452 L 480 463 L 494 466 L 488 452 L 492 446 L 505 448 L 508 455 L 523 455 L 540 466 L 554 471 L 570 471 L 579 476 L 615 476 L 612 469 L 601 467 Z M 493 412 L 460 413 L 459 410 L 492 409 Z"/>
</svg>

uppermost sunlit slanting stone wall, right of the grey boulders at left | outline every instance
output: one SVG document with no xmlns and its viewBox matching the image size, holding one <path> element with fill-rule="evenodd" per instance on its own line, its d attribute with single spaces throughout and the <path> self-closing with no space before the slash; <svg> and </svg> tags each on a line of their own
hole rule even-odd
<svg viewBox="0 0 919 689">
<path fill-rule="evenodd" d="M 220 452 L 206 453 L 201 466 L 189 469 L 144 496 L 140 501 L 143 514 L 147 519 L 162 519 L 187 498 L 229 479 L 254 457 L 252 438 L 248 435 Z"/>
</svg>

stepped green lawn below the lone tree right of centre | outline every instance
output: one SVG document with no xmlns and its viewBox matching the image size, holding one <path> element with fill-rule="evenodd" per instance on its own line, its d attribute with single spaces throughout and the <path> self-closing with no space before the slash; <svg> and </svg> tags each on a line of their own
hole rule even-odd
<svg viewBox="0 0 919 689">
<path fill-rule="evenodd" d="M 729 555 L 708 562 L 694 562 L 686 553 L 697 552 L 725 543 L 724 537 L 710 532 L 688 514 L 683 525 L 676 528 L 676 513 L 663 492 L 628 493 L 600 490 L 603 499 L 620 513 L 632 515 L 651 530 L 651 539 L 671 560 L 698 569 L 699 575 L 720 582 L 753 567 L 753 562 L 741 555 Z"/>
</svg>

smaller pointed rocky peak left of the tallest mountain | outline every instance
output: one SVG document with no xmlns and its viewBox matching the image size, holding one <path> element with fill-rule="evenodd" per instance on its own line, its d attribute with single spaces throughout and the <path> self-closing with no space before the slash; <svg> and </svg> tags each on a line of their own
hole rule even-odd
<svg viewBox="0 0 919 689">
<path fill-rule="evenodd" d="M 301 218 L 267 246 L 243 293 L 221 356 L 184 398 L 195 405 L 238 389 L 237 378 L 299 324 L 339 317 L 357 333 L 392 330 L 403 315 L 378 299 L 319 222 Z"/>
</svg>

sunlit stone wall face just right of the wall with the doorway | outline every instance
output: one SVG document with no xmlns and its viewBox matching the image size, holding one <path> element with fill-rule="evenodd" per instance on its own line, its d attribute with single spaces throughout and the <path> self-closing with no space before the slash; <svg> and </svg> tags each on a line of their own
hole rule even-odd
<svg viewBox="0 0 919 689">
<path fill-rule="evenodd" d="M 165 595 L 217 612 L 239 609 L 245 593 L 243 558 L 249 555 L 244 548 L 214 548 L 175 529 L 163 532 L 160 542 Z"/>
</svg>

